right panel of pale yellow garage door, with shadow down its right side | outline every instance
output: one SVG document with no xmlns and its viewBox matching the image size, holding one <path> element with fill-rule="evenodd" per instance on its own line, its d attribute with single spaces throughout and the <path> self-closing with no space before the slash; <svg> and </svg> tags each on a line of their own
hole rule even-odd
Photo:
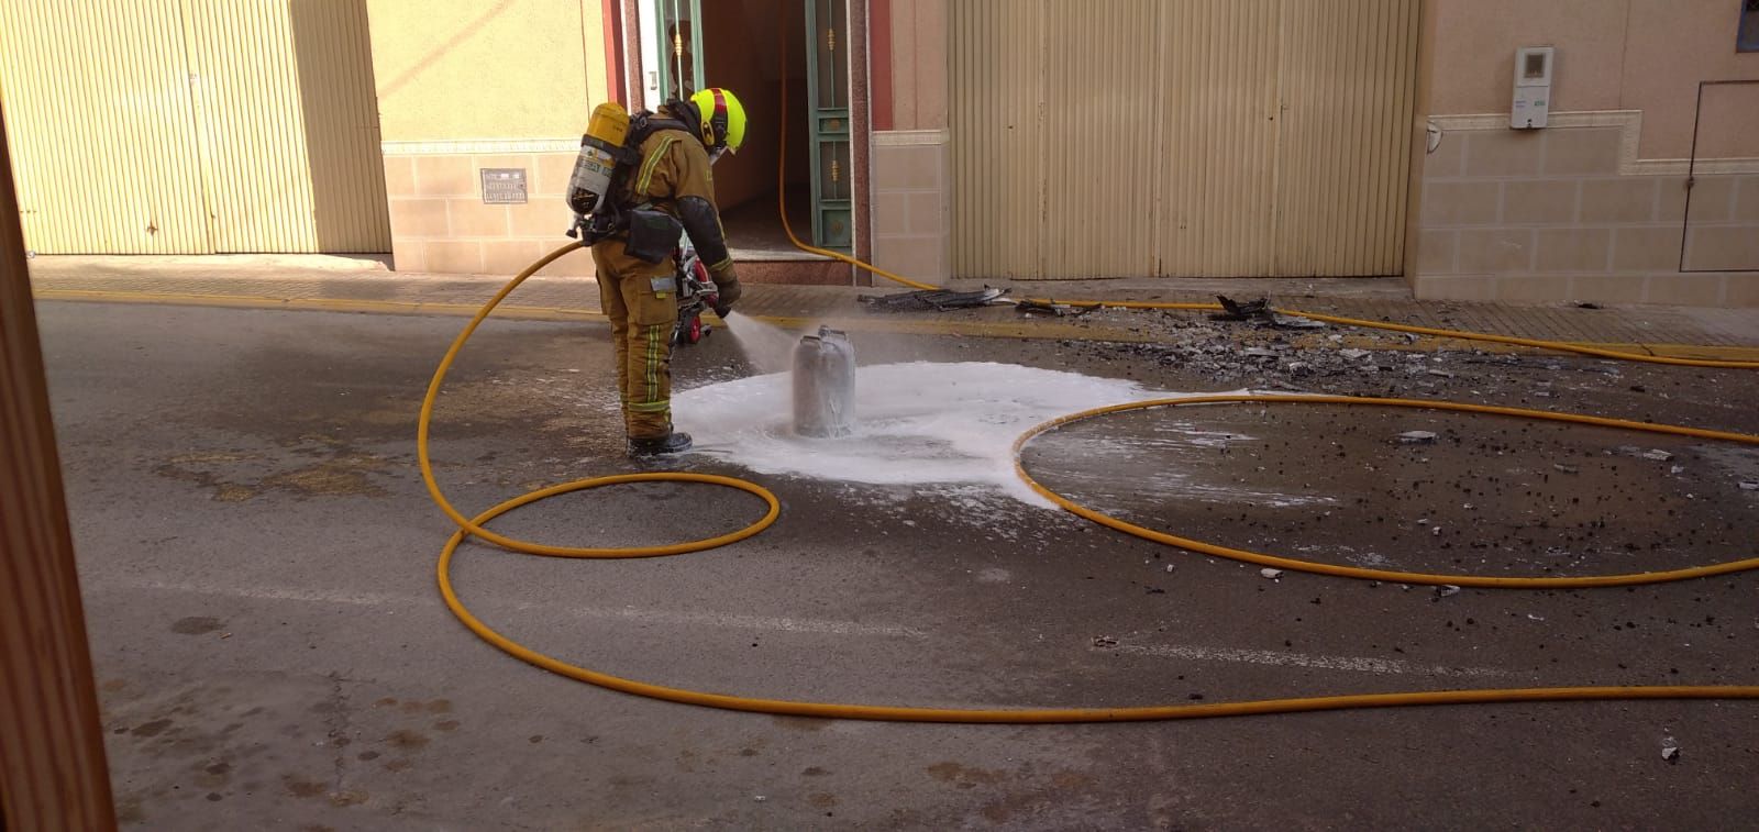
<svg viewBox="0 0 1759 832">
<path fill-rule="evenodd" d="M 185 4 L 215 248 L 389 250 L 362 5 Z"/>
</svg>

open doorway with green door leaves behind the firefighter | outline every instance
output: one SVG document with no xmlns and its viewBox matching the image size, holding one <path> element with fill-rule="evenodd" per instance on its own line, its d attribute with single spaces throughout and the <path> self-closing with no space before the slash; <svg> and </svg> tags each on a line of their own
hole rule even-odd
<svg viewBox="0 0 1759 832">
<path fill-rule="evenodd" d="M 814 151 L 809 107 L 818 56 L 807 55 L 809 2 L 827 0 L 654 0 L 644 9 L 646 100 L 656 107 L 681 91 L 721 86 L 746 106 L 744 148 L 714 165 L 714 195 L 721 208 L 726 241 L 735 257 L 756 260 L 811 259 L 783 230 L 776 202 L 786 197 L 788 225 L 806 243 L 839 248 L 848 244 L 848 195 L 813 188 L 814 174 L 825 181 L 834 172 L 850 178 L 848 141 L 841 158 Z M 841 0 L 830 5 L 841 7 Z M 841 26 L 841 23 L 839 23 Z M 823 28 L 823 25 L 814 26 Z M 841 37 L 841 32 L 839 32 Z M 783 40 L 786 39 L 786 40 Z M 781 53 L 786 49 L 786 65 Z M 836 95 L 848 97 L 846 49 L 836 53 L 843 67 Z M 700 83 L 698 83 L 700 79 Z M 786 123 L 783 123 L 786 95 Z M 843 116 L 843 125 L 848 118 Z M 820 142 L 823 132 L 820 132 Z M 781 141 L 786 137 L 786 171 L 777 192 Z M 844 190 L 848 186 L 844 185 Z M 843 209 L 841 227 L 825 222 L 825 208 Z M 814 215 L 818 222 L 814 222 Z"/>
</svg>

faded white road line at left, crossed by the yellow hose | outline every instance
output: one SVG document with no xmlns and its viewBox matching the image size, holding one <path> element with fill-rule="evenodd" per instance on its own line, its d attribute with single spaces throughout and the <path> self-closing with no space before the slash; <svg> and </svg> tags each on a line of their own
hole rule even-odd
<svg viewBox="0 0 1759 832">
<path fill-rule="evenodd" d="M 229 598 L 248 598 L 262 602 L 331 603 L 331 605 L 348 605 L 348 607 L 415 607 L 415 605 L 426 607 L 438 602 L 438 598 L 413 596 L 413 595 L 296 589 L 280 586 L 250 586 L 250 588 L 201 586 L 201 584 L 179 584 L 165 580 L 102 582 L 86 586 L 86 589 L 93 593 L 157 591 L 157 593 L 188 593 L 188 595 L 222 595 Z M 777 633 L 880 635 L 890 639 L 929 637 L 925 630 L 911 626 L 864 624 L 860 621 L 802 619 L 788 616 L 746 616 L 734 612 L 654 610 L 640 607 L 614 607 L 614 609 L 572 607 L 572 605 L 535 603 L 535 602 L 482 602 L 482 603 L 505 605 L 521 612 L 565 612 L 575 617 L 633 621 L 640 624 L 719 626 L 732 630 L 762 630 Z"/>
</svg>

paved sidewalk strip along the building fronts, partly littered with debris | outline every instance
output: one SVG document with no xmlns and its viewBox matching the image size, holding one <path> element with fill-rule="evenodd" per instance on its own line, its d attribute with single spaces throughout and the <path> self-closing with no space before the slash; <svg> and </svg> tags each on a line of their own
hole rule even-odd
<svg viewBox="0 0 1759 832">
<path fill-rule="evenodd" d="M 575 255 L 579 257 L 579 255 Z M 331 311 L 466 315 L 507 278 L 392 273 L 371 257 L 37 257 L 37 297 L 58 301 L 165 303 L 197 306 L 317 308 Z M 974 288 L 959 281 L 953 288 Z M 1578 308 L 1414 301 L 1397 278 L 1054 281 L 1011 283 L 1013 297 L 1054 296 L 1133 301 L 1214 301 L 1268 296 L 1281 308 L 1437 329 L 1609 345 L 1673 355 L 1759 357 L 1759 315 L 1752 310 L 1685 306 Z M 902 287 L 797 287 L 749 283 L 741 311 L 783 322 L 830 322 L 848 329 L 922 331 L 1001 338 L 1159 341 L 1154 315 L 1105 311 L 1082 318 L 1034 318 L 1013 306 L 945 313 L 867 313 L 857 297 Z M 573 320 L 598 315 L 598 285 L 582 278 L 536 276 L 501 308 L 519 318 Z M 1203 315 L 1171 311 L 1164 315 Z M 1351 334 L 1386 341 L 1397 334 Z M 1435 341 L 1427 341 L 1434 345 Z"/>
</svg>

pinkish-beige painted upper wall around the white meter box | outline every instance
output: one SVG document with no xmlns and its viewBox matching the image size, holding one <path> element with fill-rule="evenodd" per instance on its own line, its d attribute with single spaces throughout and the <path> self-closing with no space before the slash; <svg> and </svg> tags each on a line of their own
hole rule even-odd
<svg viewBox="0 0 1759 832">
<path fill-rule="evenodd" d="M 1759 79 L 1736 0 L 1430 0 L 1430 114 L 1507 113 L 1518 46 L 1557 46 L 1553 111 L 1643 111 L 1641 158 L 1690 153 L 1697 83 Z M 1759 135 L 1759 109 L 1731 134 Z"/>
</svg>

